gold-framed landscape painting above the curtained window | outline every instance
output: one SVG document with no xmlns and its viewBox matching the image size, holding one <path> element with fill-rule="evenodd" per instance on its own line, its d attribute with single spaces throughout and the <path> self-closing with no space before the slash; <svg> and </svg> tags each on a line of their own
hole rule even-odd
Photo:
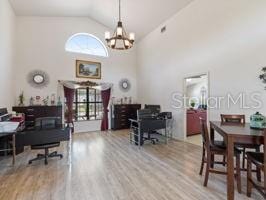
<svg viewBox="0 0 266 200">
<path fill-rule="evenodd" d="M 101 63 L 76 60 L 76 77 L 101 79 Z"/>
</svg>

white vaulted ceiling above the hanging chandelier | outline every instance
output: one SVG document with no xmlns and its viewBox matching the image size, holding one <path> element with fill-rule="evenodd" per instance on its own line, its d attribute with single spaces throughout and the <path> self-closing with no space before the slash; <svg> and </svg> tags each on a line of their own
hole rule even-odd
<svg viewBox="0 0 266 200">
<path fill-rule="evenodd" d="M 9 0 L 17 15 L 90 17 L 114 28 L 118 0 Z M 141 38 L 193 0 L 121 0 L 122 22 Z"/>
</svg>

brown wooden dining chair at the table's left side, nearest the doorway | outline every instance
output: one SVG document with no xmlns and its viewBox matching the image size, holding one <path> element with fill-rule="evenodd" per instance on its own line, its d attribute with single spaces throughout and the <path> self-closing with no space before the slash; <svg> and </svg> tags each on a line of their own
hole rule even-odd
<svg viewBox="0 0 266 200">
<path fill-rule="evenodd" d="M 212 168 L 211 166 L 214 164 L 227 164 L 226 162 L 221 161 L 213 161 L 211 157 L 215 155 L 222 155 L 224 157 L 227 156 L 227 149 L 226 146 L 220 146 L 213 144 L 209 138 L 209 132 L 206 124 L 206 120 L 200 118 L 200 127 L 201 127 L 201 135 L 202 135 L 202 142 L 203 142 L 203 151 L 202 151 L 202 159 L 201 159 L 201 167 L 200 167 L 200 175 L 202 175 L 204 164 L 206 163 L 206 172 L 205 172 L 205 179 L 204 179 L 204 186 L 206 187 L 208 184 L 209 173 L 215 174 L 223 174 L 226 175 L 227 171 L 217 170 Z M 238 192 L 241 193 L 241 171 L 240 171 L 240 154 L 241 151 L 235 149 L 235 157 L 236 157 L 236 180 L 237 180 L 237 189 Z"/>
</svg>

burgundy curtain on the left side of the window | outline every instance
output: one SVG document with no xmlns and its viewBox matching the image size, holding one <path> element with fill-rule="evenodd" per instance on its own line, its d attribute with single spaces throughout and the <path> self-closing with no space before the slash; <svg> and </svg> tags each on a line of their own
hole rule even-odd
<svg viewBox="0 0 266 200">
<path fill-rule="evenodd" d="M 67 106 L 67 116 L 66 116 L 66 122 L 69 127 L 69 125 L 72 125 L 72 131 L 74 131 L 74 124 L 73 124 L 73 102 L 74 102 L 74 95 L 75 95 L 75 89 L 71 89 L 64 86 L 64 93 L 66 98 L 66 106 Z"/>
</svg>

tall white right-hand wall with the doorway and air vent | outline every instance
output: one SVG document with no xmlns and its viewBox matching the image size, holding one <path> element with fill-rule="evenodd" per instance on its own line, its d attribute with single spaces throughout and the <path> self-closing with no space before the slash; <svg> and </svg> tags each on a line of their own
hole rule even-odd
<svg viewBox="0 0 266 200">
<path fill-rule="evenodd" d="M 209 72 L 210 96 L 261 94 L 258 79 L 266 66 L 265 0 L 196 0 L 166 21 L 138 44 L 138 98 L 142 103 L 161 104 L 173 112 L 174 135 L 184 138 L 183 109 L 174 109 L 172 94 L 183 92 L 183 78 Z M 167 30 L 161 34 L 160 28 Z M 250 103 L 250 101 L 248 101 Z M 220 113 L 243 113 L 257 109 L 210 110 L 210 120 Z M 266 107 L 258 109 L 266 114 Z"/>
</svg>

